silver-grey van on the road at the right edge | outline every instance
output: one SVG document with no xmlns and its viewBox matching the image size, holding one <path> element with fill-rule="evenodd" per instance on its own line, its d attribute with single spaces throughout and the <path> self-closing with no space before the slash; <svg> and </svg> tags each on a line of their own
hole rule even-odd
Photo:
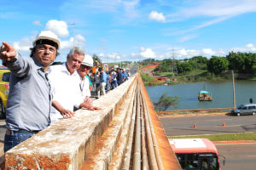
<svg viewBox="0 0 256 170">
<path fill-rule="evenodd" d="M 255 115 L 256 113 L 256 104 L 242 104 L 239 105 L 236 109 L 231 111 L 232 115 L 241 116 L 241 115 Z"/>
</svg>

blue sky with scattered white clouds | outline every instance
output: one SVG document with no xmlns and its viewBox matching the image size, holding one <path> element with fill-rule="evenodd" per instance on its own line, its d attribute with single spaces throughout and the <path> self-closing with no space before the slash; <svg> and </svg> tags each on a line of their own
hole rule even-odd
<svg viewBox="0 0 256 170">
<path fill-rule="evenodd" d="M 0 0 L 0 41 L 29 56 L 54 31 L 66 61 L 79 46 L 104 62 L 256 52 L 255 0 Z"/>
</svg>

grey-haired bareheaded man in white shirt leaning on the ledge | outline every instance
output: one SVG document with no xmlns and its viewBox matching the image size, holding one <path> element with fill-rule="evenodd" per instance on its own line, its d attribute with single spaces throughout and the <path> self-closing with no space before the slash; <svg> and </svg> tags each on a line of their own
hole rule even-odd
<svg viewBox="0 0 256 170">
<path fill-rule="evenodd" d="M 73 48 L 67 54 L 67 62 L 63 65 L 50 66 L 49 81 L 53 89 L 54 108 L 51 112 L 51 122 L 57 122 L 63 117 L 67 118 L 74 115 L 73 109 L 86 107 L 81 96 L 79 96 L 79 69 L 84 60 L 84 50 Z"/>
</svg>

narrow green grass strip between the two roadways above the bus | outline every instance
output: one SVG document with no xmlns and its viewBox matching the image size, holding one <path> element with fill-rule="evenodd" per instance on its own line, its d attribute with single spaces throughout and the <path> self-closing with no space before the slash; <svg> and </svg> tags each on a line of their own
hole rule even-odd
<svg viewBox="0 0 256 170">
<path fill-rule="evenodd" d="M 206 138 L 211 141 L 256 140 L 256 133 L 205 134 L 193 136 L 168 136 L 168 139 Z"/>
</svg>

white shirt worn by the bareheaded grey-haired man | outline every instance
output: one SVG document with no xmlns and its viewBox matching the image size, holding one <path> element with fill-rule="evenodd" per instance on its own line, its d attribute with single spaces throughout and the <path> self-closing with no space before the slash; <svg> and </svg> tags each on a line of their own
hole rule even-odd
<svg viewBox="0 0 256 170">
<path fill-rule="evenodd" d="M 57 101 L 62 107 L 73 111 L 73 107 L 79 107 L 83 99 L 79 95 L 80 77 L 77 71 L 71 75 L 67 70 L 66 63 L 63 65 L 50 66 L 49 82 L 53 92 L 53 101 Z M 50 114 L 51 122 L 62 119 L 61 113 L 52 109 Z"/>
</svg>

